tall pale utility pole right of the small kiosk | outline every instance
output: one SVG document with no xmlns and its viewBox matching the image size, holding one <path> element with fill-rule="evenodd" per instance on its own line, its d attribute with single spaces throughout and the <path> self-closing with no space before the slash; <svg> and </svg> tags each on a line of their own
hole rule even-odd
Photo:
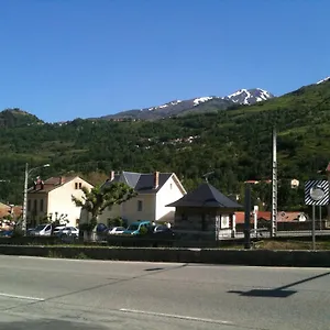
<svg viewBox="0 0 330 330">
<path fill-rule="evenodd" d="M 273 157 L 272 157 L 272 223 L 271 238 L 276 235 L 277 229 L 277 133 L 273 129 Z"/>
</svg>

